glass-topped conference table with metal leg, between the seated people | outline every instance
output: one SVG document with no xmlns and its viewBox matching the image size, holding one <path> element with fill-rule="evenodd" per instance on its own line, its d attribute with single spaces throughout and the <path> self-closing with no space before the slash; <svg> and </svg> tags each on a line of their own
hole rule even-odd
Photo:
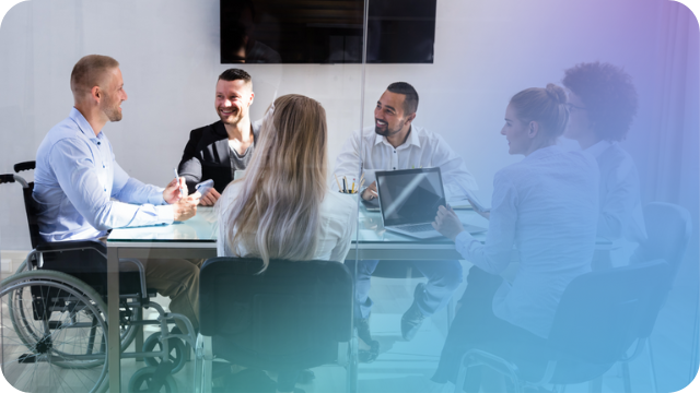
<svg viewBox="0 0 700 393">
<path fill-rule="evenodd" d="M 456 210 L 464 224 L 488 228 L 488 221 L 471 210 Z M 419 240 L 388 231 L 378 212 L 360 204 L 358 230 L 347 260 L 459 260 L 454 243 L 444 238 Z M 172 225 L 114 229 L 107 238 L 108 326 L 119 324 L 119 259 L 207 259 L 217 257 L 219 226 L 212 207 L 198 207 L 197 215 Z M 474 235 L 483 241 L 486 233 Z M 597 241 L 597 249 L 610 247 Z M 140 338 L 142 340 L 142 337 Z M 119 329 L 108 330 L 108 368 L 112 392 L 120 391 Z"/>
</svg>

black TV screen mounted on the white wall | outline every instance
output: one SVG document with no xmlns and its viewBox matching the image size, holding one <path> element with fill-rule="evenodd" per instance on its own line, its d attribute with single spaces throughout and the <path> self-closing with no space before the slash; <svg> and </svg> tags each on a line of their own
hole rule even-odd
<svg viewBox="0 0 700 393">
<path fill-rule="evenodd" d="M 364 0 L 220 0 L 222 63 L 360 63 Z M 432 63 L 436 0 L 370 0 L 369 63 Z"/>
</svg>

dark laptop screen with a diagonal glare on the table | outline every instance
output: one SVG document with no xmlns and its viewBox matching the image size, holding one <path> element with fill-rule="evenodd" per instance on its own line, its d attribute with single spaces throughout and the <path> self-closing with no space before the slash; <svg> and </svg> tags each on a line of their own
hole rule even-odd
<svg viewBox="0 0 700 393">
<path fill-rule="evenodd" d="M 384 226 L 432 223 L 445 205 L 440 168 L 376 172 Z"/>
</svg>

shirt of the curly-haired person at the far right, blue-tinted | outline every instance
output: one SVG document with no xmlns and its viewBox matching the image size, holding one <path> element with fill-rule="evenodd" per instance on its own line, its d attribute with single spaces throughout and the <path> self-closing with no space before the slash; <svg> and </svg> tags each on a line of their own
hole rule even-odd
<svg viewBox="0 0 700 393">
<path fill-rule="evenodd" d="M 617 142 L 600 141 L 585 150 L 600 170 L 598 237 L 646 239 L 639 175 L 632 157 Z"/>
</svg>

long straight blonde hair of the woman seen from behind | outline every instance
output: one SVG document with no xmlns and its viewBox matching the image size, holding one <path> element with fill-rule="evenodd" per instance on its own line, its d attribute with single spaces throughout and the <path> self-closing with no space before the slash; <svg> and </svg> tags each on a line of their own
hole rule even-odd
<svg viewBox="0 0 700 393">
<path fill-rule="evenodd" d="M 262 271 L 270 259 L 313 258 L 326 193 L 326 111 L 316 100 L 290 94 L 268 108 L 223 223 L 234 254 L 243 257 L 235 247 L 242 243 L 262 259 Z"/>
</svg>

